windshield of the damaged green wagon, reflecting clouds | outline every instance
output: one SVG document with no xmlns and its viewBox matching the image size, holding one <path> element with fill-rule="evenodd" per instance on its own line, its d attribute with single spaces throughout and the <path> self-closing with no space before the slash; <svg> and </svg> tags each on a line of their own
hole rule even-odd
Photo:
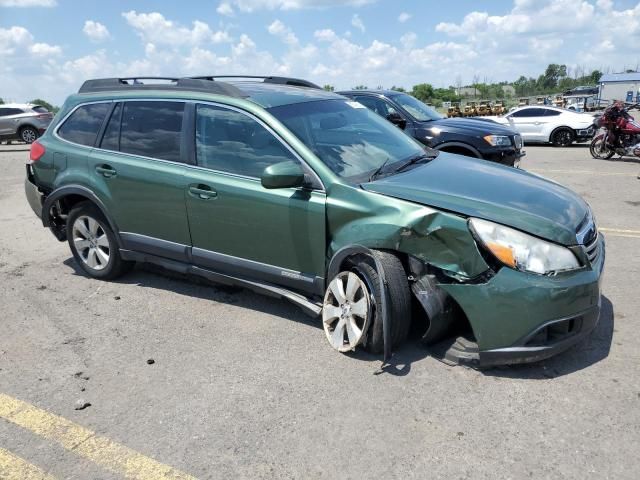
<svg viewBox="0 0 640 480">
<path fill-rule="evenodd" d="M 268 110 L 351 183 L 368 181 L 383 164 L 386 169 L 425 154 L 422 145 L 358 102 L 319 100 Z"/>
</svg>

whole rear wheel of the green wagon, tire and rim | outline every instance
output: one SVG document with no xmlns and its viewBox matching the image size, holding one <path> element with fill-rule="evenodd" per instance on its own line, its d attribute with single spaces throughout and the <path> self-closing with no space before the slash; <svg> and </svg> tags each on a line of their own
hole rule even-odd
<svg viewBox="0 0 640 480">
<path fill-rule="evenodd" d="M 134 265 L 122 259 L 109 222 L 91 202 L 81 202 L 69 212 L 67 240 L 76 263 L 92 278 L 113 280 Z"/>
</svg>

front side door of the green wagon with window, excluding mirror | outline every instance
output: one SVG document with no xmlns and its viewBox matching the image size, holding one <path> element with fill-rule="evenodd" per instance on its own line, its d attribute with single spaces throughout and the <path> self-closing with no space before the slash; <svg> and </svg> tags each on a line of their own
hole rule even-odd
<svg viewBox="0 0 640 480">
<path fill-rule="evenodd" d="M 267 166 L 300 162 L 289 147 L 244 112 L 198 105 L 196 159 L 197 166 L 186 171 L 194 263 L 321 293 L 325 193 L 321 188 L 269 190 L 260 182 Z"/>
</svg>

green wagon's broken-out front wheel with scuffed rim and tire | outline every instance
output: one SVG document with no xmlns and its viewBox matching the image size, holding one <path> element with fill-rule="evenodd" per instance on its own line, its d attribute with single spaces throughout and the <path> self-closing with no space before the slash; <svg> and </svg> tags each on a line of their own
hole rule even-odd
<svg viewBox="0 0 640 480">
<path fill-rule="evenodd" d="M 411 325 L 411 293 L 400 260 L 386 252 L 371 257 L 357 256 L 329 283 L 324 296 L 322 323 L 329 344 L 339 352 L 355 350 L 362 344 L 372 353 L 384 349 L 380 273 L 384 270 L 387 289 L 387 321 L 392 347 L 400 345 Z"/>
</svg>

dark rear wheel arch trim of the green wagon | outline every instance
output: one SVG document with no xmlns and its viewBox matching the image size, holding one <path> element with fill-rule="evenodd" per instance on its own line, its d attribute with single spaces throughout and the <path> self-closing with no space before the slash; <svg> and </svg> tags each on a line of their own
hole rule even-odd
<svg viewBox="0 0 640 480">
<path fill-rule="evenodd" d="M 50 228 L 58 240 L 66 240 L 64 225 L 59 223 L 60 218 L 56 216 L 56 213 L 67 214 L 75 205 L 84 201 L 91 202 L 100 210 L 116 237 L 118 248 L 122 248 L 120 231 L 118 230 L 118 226 L 115 221 L 108 214 L 104 203 L 95 193 L 82 185 L 65 185 L 55 189 L 47 195 L 47 198 L 42 205 L 42 224 L 46 228 Z"/>
</svg>

